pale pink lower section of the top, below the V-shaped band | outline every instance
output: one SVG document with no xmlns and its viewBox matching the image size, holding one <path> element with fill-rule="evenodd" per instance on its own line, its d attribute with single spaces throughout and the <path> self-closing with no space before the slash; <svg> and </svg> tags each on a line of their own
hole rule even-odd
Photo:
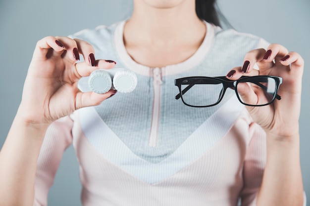
<svg viewBox="0 0 310 206">
<path fill-rule="evenodd" d="M 265 163 L 265 137 L 261 128 L 251 123 L 246 110 L 205 154 L 155 184 L 146 183 L 105 159 L 85 137 L 78 112 L 73 117 L 73 145 L 81 166 L 84 206 L 236 206 L 239 194 L 244 193 L 252 194 L 244 202 L 253 204 L 255 200 Z M 262 135 L 256 137 L 259 133 Z M 252 141 L 255 139 L 259 141 Z M 261 146 L 257 147 L 257 143 Z M 250 148 L 255 148 L 253 155 L 249 154 Z M 254 165 L 243 170 L 247 161 Z M 254 175 L 258 184 L 252 181 Z M 244 179 L 249 180 L 247 187 Z M 36 184 L 38 190 L 40 186 Z"/>
</svg>

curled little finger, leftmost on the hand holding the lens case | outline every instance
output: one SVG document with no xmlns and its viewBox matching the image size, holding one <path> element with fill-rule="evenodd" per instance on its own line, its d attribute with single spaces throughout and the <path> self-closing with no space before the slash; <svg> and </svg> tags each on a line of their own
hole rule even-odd
<svg viewBox="0 0 310 206">
<path fill-rule="evenodd" d="M 45 60 L 49 57 L 48 53 L 51 53 L 51 49 L 54 51 L 52 53 L 57 53 L 58 56 L 60 56 L 66 48 L 63 43 L 55 37 L 45 37 L 37 42 L 33 58 Z"/>
</svg>

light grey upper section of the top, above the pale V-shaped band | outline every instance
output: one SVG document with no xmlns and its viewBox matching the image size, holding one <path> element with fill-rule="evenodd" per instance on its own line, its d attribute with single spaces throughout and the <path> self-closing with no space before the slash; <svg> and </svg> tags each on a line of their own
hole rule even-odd
<svg viewBox="0 0 310 206">
<path fill-rule="evenodd" d="M 149 162 L 158 163 L 176 151 L 201 124 L 235 95 L 234 91 L 228 89 L 219 105 L 191 108 L 183 105 L 181 99 L 175 100 L 174 97 L 179 92 L 174 80 L 188 76 L 225 76 L 231 68 L 243 64 L 246 52 L 257 48 L 261 39 L 233 30 L 223 31 L 206 22 L 207 33 L 201 47 L 184 62 L 160 68 L 161 84 L 160 89 L 156 90 L 156 68 L 140 65 L 126 53 L 122 36 L 123 25 L 124 22 L 120 22 L 111 27 L 84 31 L 73 37 L 94 45 L 96 58 L 111 58 L 117 62 L 117 66 L 137 73 L 138 84 L 133 92 L 116 94 L 97 106 L 96 110 L 104 123 L 131 151 Z M 87 80 L 88 78 L 81 80 L 79 88 L 82 91 L 89 90 L 85 83 Z M 208 95 L 218 95 L 211 91 L 204 92 Z M 191 95 L 192 98 L 196 98 L 201 94 L 192 92 Z M 153 109 L 158 99 L 159 119 L 156 119 Z M 155 147 L 149 146 L 150 138 L 154 138 L 151 137 L 154 135 L 152 130 L 158 131 Z"/>
</svg>

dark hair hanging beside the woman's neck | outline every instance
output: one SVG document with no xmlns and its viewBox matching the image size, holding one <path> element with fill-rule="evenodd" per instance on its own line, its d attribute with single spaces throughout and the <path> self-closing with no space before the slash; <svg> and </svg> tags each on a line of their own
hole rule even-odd
<svg viewBox="0 0 310 206">
<path fill-rule="evenodd" d="M 231 27 L 218 9 L 216 0 L 196 0 L 196 13 L 198 18 L 212 23 L 215 26 L 222 26 L 221 22 L 223 22 L 226 26 Z"/>
</svg>

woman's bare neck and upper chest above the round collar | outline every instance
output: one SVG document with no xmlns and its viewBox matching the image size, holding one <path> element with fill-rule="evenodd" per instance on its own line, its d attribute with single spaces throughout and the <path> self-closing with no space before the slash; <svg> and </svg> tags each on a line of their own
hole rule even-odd
<svg viewBox="0 0 310 206">
<path fill-rule="evenodd" d="M 136 62 L 164 67 L 185 61 L 196 52 L 206 35 L 206 25 L 197 17 L 193 1 L 164 8 L 136 1 L 124 27 L 125 47 Z"/>
</svg>

